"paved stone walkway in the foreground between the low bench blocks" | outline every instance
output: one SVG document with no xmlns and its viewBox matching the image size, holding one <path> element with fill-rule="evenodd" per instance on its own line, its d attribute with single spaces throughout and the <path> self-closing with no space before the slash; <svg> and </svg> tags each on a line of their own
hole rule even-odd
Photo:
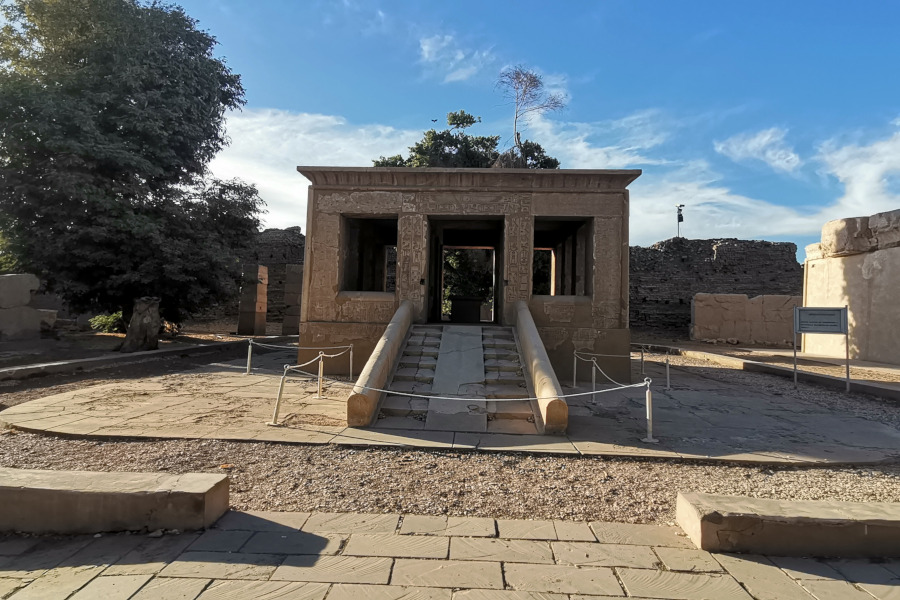
<svg viewBox="0 0 900 600">
<path fill-rule="evenodd" d="M 674 527 L 229 512 L 202 533 L 0 536 L 0 598 L 893 600 L 900 560 L 710 554 Z"/>
</svg>

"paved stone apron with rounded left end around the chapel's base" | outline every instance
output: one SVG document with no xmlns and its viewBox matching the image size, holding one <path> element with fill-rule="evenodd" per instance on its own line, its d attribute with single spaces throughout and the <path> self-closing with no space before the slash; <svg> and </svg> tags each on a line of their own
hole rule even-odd
<svg viewBox="0 0 900 600">
<path fill-rule="evenodd" d="M 542 436 L 490 429 L 427 431 L 415 419 L 404 427 L 403 418 L 393 419 L 392 428 L 350 428 L 345 421 L 345 385 L 329 384 L 325 399 L 316 400 L 312 382 L 292 379 L 282 406 L 283 426 L 268 427 L 280 365 L 288 362 L 290 355 L 272 353 L 255 359 L 258 368 L 249 376 L 243 374 L 241 361 L 235 361 L 86 388 L 7 409 L 0 413 L 0 423 L 29 431 L 104 437 L 477 448 L 752 463 L 865 464 L 896 461 L 900 455 L 897 429 L 796 397 L 789 382 L 774 380 L 764 389 L 749 389 L 690 369 L 672 370 L 670 391 L 654 384 L 654 435 L 659 444 L 640 441 L 646 435 L 643 389 L 572 399 L 567 435 Z M 656 363 L 648 363 L 647 374 L 655 382 L 665 381 Z"/>
</svg>

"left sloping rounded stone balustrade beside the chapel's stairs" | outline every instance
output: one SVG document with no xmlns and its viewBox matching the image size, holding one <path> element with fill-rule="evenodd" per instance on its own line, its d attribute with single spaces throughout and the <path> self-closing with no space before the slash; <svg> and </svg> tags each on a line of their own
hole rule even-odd
<svg viewBox="0 0 900 600">
<path fill-rule="evenodd" d="M 356 386 L 347 399 L 347 425 L 350 427 L 367 427 L 375 420 L 382 392 L 372 388 L 383 390 L 387 384 L 412 325 L 413 309 L 413 303 L 409 300 L 400 303 L 359 374 Z"/>
</svg>

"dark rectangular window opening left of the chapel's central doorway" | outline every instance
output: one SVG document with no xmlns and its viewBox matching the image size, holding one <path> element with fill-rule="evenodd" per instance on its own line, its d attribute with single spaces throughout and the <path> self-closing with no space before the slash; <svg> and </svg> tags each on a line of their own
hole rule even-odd
<svg viewBox="0 0 900 600">
<path fill-rule="evenodd" d="M 397 222 L 396 217 L 342 218 L 341 291 L 396 289 Z"/>
</svg>

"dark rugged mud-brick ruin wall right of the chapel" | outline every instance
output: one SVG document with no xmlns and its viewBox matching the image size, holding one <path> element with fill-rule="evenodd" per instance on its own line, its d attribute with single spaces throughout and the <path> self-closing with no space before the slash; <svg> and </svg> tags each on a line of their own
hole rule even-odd
<svg viewBox="0 0 900 600">
<path fill-rule="evenodd" d="M 797 246 L 734 238 L 672 238 L 630 252 L 630 326 L 687 334 L 695 294 L 799 296 Z"/>
</svg>

